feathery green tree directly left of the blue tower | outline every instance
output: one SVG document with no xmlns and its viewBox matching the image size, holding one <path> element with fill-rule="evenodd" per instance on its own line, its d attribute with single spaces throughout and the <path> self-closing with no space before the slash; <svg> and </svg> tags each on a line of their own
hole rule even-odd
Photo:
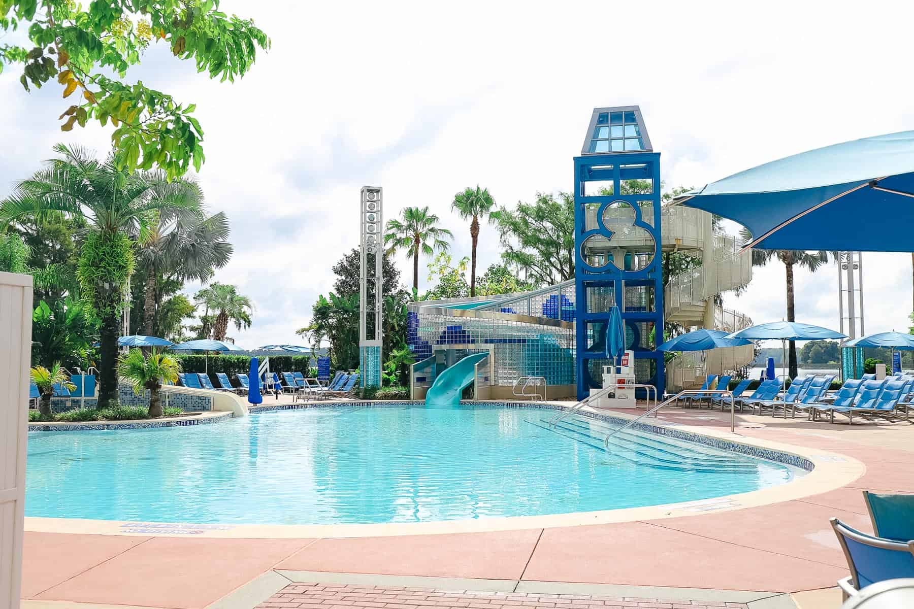
<svg viewBox="0 0 914 609">
<path fill-rule="evenodd" d="M 537 193 L 533 204 L 500 207 L 491 216 L 501 236 L 502 260 L 533 284 L 574 277 L 574 195 Z"/>
</svg>

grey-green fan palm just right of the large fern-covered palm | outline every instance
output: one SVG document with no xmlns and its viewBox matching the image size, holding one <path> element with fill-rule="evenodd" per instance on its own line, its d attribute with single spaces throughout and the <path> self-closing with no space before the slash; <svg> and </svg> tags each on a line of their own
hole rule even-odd
<svg viewBox="0 0 914 609">
<path fill-rule="evenodd" d="M 202 211 L 203 194 L 192 179 Z M 228 264 L 232 246 L 228 238 L 228 217 L 224 212 L 206 216 L 196 211 L 158 215 L 146 235 L 139 239 L 136 260 L 146 276 L 143 300 L 143 333 L 155 334 L 155 318 L 162 285 L 168 279 L 207 281 L 218 268 Z"/>
</svg>

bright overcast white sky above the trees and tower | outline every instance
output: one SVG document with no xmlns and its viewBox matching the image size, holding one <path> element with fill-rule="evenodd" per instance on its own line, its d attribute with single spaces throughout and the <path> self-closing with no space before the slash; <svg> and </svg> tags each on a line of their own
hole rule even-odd
<svg viewBox="0 0 914 609">
<path fill-rule="evenodd" d="M 330 289 L 330 267 L 357 245 L 364 184 L 384 187 L 388 217 L 429 205 L 462 257 L 469 228 L 450 211 L 453 194 L 482 184 L 514 205 L 569 190 L 597 106 L 641 106 L 668 187 L 914 129 L 911 5 L 868 2 L 875 23 L 859 3 L 696 5 L 223 0 L 272 38 L 248 77 L 210 81 L 162 43 L 129 78 L 197 103 L 207 155 L 199 179 L 210 208 L 228 213 L 235 245 L 216 279 L 257 306 L 250 330 L 230 333 L 249 348 L 299 342 L 293 332 Z M 103 154 L 110 138 L 110 126 L 61 133 L 59 89 L 27 94 L 19 74 L 0 75 L 0 196 L 53 143 Z M 480 272 L 498 254 L 484 225 Z M 409 261 L 398 263 L 409 282 Z M 866 253 L 864 268 L 867 333 L 906 330 L 910 256 Z M 837 328 L 837 302 L 834 265 L 797 273 L 797 320 Z M 783 266 L 757 269 L 725 305 L 781 320 Z"/>
</svg>

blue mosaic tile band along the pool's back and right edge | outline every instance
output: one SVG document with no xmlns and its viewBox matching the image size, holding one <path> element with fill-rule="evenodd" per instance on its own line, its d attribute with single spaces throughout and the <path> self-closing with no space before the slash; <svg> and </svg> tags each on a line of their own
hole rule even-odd
<svg viewBox="0 0 914 609">
<path fill-rule="evenodd" d="M 366 408 L 378 408 L 378 407 L 404 407 L 404 406 L 413 406 L 417 404 L 422 404 L 422 402 L 413 402 L 409 400 L 404 401 L 365 401 L 365 402 L 311 402 L 311 403 L 301 403 L 301 404 L 275 404 L 275 405 L 260 405 L 260 406 L 250 406 L 249 412 L 251 415 L 256 415 L 260 413 L 266 413 L 277 410 L 299 410 L 302 408 L 333 408 L 338 406 L 362 406 Z M 543 404 L 539 402 L 486 402 L 486 401 L 477 401 L 477 400 L 462 400 L 462 405 L 483 407 L 483 408 L 546 408 L 549 410 L 558 410 L 564 411 L 568 410 L 565 406 L 560 406 L 558 404 Z M 621 416 L 612 416 L 604 415 L 602 413 L 593 413 L 579 411 L 576 415 L 587 416 L 593 419 L 600 421 L 605 421 L 607 423 L 613 423 L 616 425 L 624 425 L 629 422 L 630 419 L 622 418 Z M 733 442 L 731 440 L 725 440 L 723 438 L 711 437 L 711 436 L 702 436 L 701 434 L 696 434 L 693 432 L 684 431 L 682 429 L 672 429 L 669 427 L 663 427 L 660 425 L 651 425 L 649 423 L 636 423 L 632 427 L 657 434 L 659 436 L 669 436 L 676 438 L 678 440 L 685 440 L 688 442 L 695 442 L 697 444 L 704 444 L 706 446 L 712 446 L 714 448 L 719 448 L 721 450 L 728 450 L 731 452 L 739 453 L 741 455 L 746 455 L 748 457 L 757 457 L 766 459 L 769 461 L 775 461 L 777 463 L 782 463 L 784 465 L 789 465 L 793 467 L 799 467 L 805 471 L 812 471 L 815 467 L 813 462 L 805 457 L 800 457 L 797 455 L 792 455 L 791 453 L 785 453 L 780 450 L 772 450 L 771 448 L 763 448 L 761 446 L 751 446 L 746 444 L 740 444 L 739 442 Z"/>
</svg>

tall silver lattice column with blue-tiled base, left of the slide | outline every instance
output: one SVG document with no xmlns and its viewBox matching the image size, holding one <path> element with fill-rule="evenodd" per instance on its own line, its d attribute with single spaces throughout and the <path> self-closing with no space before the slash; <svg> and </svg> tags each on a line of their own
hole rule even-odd
<svg viewBox="0 0 914 609">
<path fill-rule="evenodd" d="M 358 299 L 358 361 L 362 387 L 381 386 L 381 346 L 384 340 L 384 222 L 380 186 L 362 186 L 361 257 Z"/>
</svg>

